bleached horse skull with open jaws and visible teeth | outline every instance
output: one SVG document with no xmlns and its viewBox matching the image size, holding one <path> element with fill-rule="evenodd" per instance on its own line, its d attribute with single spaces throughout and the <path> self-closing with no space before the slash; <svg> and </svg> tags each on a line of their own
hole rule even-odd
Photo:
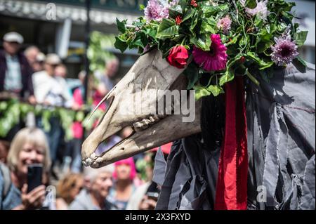
<svg viewBox="0 0 316 224">
<path fill-rule="evenodd" d="M 162 94 L 164 91 L 185 90 L 187 80 L 181 75 L 182 72 L 183 70 L 169 65 L 159 51 L 140 56 L 131 70 L 103 99 L 110 100 L 111 103 L 102 121 L 82 145 L 84 165 L 98 168 L 199 133 L 200 101 L 194 102 L 195 119 L 191 122 L 183 122 L 183 113 L 170 114 L 166 108 L 164 112 L 158 112 L 159 102 L 165 101 Z M 189 95 L 173 102 L 172 108 L 177 105 L 178 108 L 186 106 L 189 98 L 192 99 Z M 126 126 L 133 128 L 131 136 L 103 154 L 96 155 L 95 151 L 100 143 Z"/>
</svg>

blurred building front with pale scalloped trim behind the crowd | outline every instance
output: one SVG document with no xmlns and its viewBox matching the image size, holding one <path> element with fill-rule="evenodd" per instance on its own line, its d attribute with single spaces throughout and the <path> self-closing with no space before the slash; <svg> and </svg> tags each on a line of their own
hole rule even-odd
<svg viewBox="0 0 316 224">
<path fill-rule="evenodd" d="M 116 18 L 136 20 L 142 13 L 139 4 L 145 0 L 90 2 L 91 31 L 117 34 Z M 71 77 L 84 68 L 86 20 L 86 0 L 0 0 L 0 37 L 9 31 L 19 32 L 25 37 L 23 48 L 36 45 L 44 53 L 58 53 Z M 137 58 L 136 51 L 123 55 L 114 48 L 108 50 L 119 57 L 120 74 L 125 74 Z"/>
</svg>

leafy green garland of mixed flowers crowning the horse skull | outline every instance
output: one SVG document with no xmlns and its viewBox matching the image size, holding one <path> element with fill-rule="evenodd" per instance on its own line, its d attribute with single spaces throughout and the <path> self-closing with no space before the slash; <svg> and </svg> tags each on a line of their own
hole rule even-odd
<svg viewBox="0 0 316 224">
<path fill-rule="evenodd" d="M 186 68 L 187 88 L 197 98 L 216 96 L 235 75 L 259 84 L 256 75 L 268 80 L 275 66 L 305 65 L 298 47 L 308 32 L 292 22 L 294 6 L 284 0 L 149 0 L 131 25 L 117 20 L 115 47 L 158 48 L 170 65 Z"/>
</svg>

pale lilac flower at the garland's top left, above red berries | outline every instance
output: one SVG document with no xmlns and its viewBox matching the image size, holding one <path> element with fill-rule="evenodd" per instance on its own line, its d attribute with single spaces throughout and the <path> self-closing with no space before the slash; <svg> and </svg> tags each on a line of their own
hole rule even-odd
<svg viewBox="0 0 316 224">
<path fill-rule="evenodd" d="M 145 8 L 146 20 L 162 21 L 163 18 L 169 17 L 168 5 L 164 6 L 161 1 L 149 0 Z"/>
</svg>

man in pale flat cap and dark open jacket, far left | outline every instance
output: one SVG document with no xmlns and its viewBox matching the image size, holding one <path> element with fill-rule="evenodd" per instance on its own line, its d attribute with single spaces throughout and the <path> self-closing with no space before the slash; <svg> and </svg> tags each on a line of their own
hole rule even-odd
<svg viewBox="0 0 316 224">
<path fill-rule="evenodd" d="M 17 32 L 4 35 L 4 50 L 0 51 L 0 92 L 16 93 L 29 103 L 36 103 L 32 84 L 32 68 L 20 52 L 23 37 Z"/>
</svg>

